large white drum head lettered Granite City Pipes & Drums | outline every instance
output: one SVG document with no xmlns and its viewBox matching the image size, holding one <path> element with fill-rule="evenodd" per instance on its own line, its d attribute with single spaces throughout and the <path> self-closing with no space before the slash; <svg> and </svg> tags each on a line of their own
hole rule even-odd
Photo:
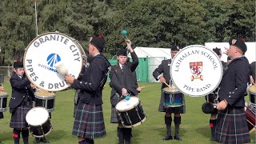
<svg viewBox="0 0 256 144">
<path fill-rule="evenodd" d="M 55 68 L 62 63 L 74 78 L 82 70 L 82 47 L 73 38 L 50 32 L 34 38 L 26 48 L 23 63 L 27 78 L 42 90 L 59 91 L 70 86 Z"/>
</svg>

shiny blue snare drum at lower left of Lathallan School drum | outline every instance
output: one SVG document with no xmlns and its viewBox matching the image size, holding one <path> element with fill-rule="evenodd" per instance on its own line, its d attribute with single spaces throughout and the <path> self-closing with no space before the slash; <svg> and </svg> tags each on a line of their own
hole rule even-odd
<svg viewBox="0 0 256 144">
<path fill-rule="evenodd" d="M 184 94 L 178 88 L 171 86 L 162 89 L 162 96 L 164 97 L 164 106 L 178 107 L 184 105 Z"/>
</svg>

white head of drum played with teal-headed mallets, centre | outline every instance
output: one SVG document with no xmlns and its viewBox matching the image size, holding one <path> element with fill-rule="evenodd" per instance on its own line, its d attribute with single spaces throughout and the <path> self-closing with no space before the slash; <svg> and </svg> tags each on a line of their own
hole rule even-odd
<svg viewBox="0 0 256 144">
<path fill-rule="evenodd" d="M 139 99 L 138 97 L 130 97 L 130 100 L 123 99 L 122 101 L 118 102 L 117 106 L 115 108 L 122 112 L 122 111 L 127 111 L 131 110 L 134 108 L 134 106 L 138 106 Z"/>
</svg>

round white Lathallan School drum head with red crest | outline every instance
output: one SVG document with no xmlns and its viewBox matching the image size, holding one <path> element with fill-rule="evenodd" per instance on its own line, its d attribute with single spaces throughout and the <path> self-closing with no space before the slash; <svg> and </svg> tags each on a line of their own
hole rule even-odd
<svg viewBox="0 0 256 144">
<path fill-rule="evenodd" d="M 174 85 L 190 97 L 202 97 L 214 91 L 222 80 L 222 62 L 206 46 L 186 46 L 171 62 Z"/>
</svg>

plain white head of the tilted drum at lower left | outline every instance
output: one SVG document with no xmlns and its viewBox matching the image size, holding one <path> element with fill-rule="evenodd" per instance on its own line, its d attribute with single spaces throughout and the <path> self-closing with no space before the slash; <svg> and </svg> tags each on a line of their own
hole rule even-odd
<svg viewBox="0 0 256 144">
<path fill-rule="evenodd" d="M 26 122 L 30 126 L 40 126 L 49 118 L 49 113 L 44 107 L 34 107 L 26 114 Z"/>
</svg>

